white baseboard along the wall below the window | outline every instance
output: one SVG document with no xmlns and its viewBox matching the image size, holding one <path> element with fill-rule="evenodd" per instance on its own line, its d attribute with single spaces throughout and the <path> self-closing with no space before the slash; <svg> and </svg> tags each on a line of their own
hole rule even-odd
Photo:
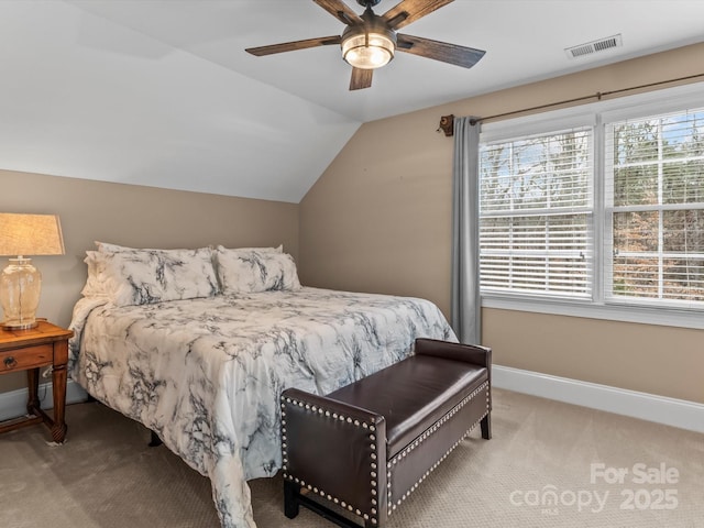
<svg viewBox="0 0 704 528">
<path fill-rule="evenodd" d="M 704 404 L 695 402 L 501 365 L 492 366 L 492 384 L 497 388 L 704 432 Z"/>
</svg>

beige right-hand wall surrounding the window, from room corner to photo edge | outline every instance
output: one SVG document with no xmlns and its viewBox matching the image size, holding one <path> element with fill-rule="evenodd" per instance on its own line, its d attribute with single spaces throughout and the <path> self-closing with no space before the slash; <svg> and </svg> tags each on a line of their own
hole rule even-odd
<svg viewBox="0 0 704 528">
<path fill-rule="evenodd" d="M 449 315 L 452 139 L 492 116 L 702 73 L 704 44 L 366 123 L 300 204 L 301 280 L 427 297 Z M 484 309 L 496 364 L 704 403 L 704 331 Z"/>
</svg>

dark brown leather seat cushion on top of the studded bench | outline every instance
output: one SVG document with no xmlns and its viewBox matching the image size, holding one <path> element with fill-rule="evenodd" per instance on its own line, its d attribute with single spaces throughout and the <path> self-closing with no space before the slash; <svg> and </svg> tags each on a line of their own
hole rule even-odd
<svg viewBox="0 0 704 528">
<path fill-rule="evenodd" d="M 487 380 L 485 367 L 438 356 L 413 355 L 328 395 L 386 419 L 388 458 L 442 418 Z M 411 383 L 403 383 L 413 380 Z"/>
</svg>

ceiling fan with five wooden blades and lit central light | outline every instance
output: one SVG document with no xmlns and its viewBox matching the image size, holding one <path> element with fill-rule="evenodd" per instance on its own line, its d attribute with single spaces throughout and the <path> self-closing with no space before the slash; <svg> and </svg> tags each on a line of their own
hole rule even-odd
<svg viewBox="0 0 704 528">
<path fill-rule="evenodd" d="M 442 61 L 463 68 L 471 68 L 486 53 L 473 47 L 397 33 L 400 28 L 451 3 L 453 0 L 402 0 L 382 15 L 375 14 L 372 10 L 381 0 L 356 1 L 365 8 L 361 15 L 352 11 L 342 0 L 314 0 L 346 25 L 342 35 L 249 47 L 245 51 L 252 55 L 263 56 L 339 44 L 342 47 L 342 58 L 352 66 L 350 90 L 372 86 L 374 69 L 386 65 L 394 58 L 396 51 Z"/>
</svg>

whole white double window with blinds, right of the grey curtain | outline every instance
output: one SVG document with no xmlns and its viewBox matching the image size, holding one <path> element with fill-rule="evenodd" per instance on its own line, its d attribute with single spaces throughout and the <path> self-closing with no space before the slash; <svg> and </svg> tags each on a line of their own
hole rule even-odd
<svg viewBox="0 0 704 528">
<path fill-rule="evenodd" d="M 624 98 L 483 128 L 483 306 L 579 306 L 574 315 L 649 314 L 645 322 L 675 324 L 667 318 L 689 317 L 681 326 L 704 328 L 697 88 L 680 102 Z M 600 316 L 588 311 L 597 308 Z"/>
</svg>

